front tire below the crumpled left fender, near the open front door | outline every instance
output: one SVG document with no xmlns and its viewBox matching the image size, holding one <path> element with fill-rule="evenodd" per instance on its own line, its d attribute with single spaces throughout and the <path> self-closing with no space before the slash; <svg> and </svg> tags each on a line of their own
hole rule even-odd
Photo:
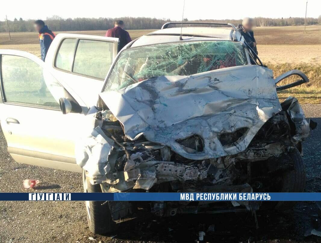
<svg viewBox="0 0 321 243">
<path fill-rule="evenodd" d="M 82 183 L 84 192 L 101 192 L 100 184 L 91 185 L 86 179 L 85 170 L 82 170 Z M 86 214 L 89 230 L 94 234 L 104 234 L 116 229 L 116 222 L 113 221 L 108 203 L 104 201 L 86 201 Z"/>
</svg>

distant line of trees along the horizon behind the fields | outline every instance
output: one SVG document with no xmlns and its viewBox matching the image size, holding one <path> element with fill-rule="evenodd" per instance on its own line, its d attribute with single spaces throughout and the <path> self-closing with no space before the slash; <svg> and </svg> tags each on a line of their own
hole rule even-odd
<svg viewBox="0 0 321 243">
<path fill-rule="evenodd" d="M 161 26 L 170 22 L 169 19 L 156 19 L 145 17 L 122 17 L 117 18 L 125 22 L 125 29 L 127 30 L 141 30 L 141 29 L 160 29 Z M 107 30 L 114 27 L 116 18 L 68 18 L 63 19 L 57 15 L 49 17 L 45 23 L 53 31 L 77 31 L 77 30 Z M 304 25 L 304 18 L 289 17 L 289 18 L 254 18 L 256 26 L 299 26 Z M 188 19 L 184 19 L 188 21 Z M 195 20 L 197 22 L 224 22 L 238 25 L 242 22 L 241 19 L 225 19 L 225 20 Z M 22 18 L 8 21 L 11 32 L 30 32 L 34 31 L 34 20 L 23 20 Z M 318 18 L 307 18 L 307 25 L 321 25 L 321 15 Z M 0 21 L 0 32 L 8 32 L 6 21 Z"/>
</svg>

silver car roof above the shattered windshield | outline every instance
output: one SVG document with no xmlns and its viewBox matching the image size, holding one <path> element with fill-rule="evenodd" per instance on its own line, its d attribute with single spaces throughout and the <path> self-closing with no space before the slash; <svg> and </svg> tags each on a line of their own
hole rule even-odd
<svg viewBox="0 0 321 243">
<path fill-rule="evenodd" d="M 204 41 L 204 40 L 225 40 L 233 39 L 234 30 L 231 28 L 213 28 L 213 27 L 183 27 L 167 28 L 156 30 L 136 39 L 129 46 L 139 47 L 170 42 L 181 42 L 179 35 L 182 31 L 183 41 Z M 236 31 L 237 39 L 241 39 L 241 34 Z"/>
</svg>

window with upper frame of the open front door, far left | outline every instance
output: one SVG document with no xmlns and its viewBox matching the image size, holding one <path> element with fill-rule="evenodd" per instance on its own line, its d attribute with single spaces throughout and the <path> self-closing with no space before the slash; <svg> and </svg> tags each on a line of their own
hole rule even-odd
<svg viewBox="0 0 321 243">
<path fill-rule="evenodd" d="M 63 88 L 29 58 L 1 55 L 1 78 L 4 102 L 60 110 L 51 91 L 60 92 Z"/>
</svg>

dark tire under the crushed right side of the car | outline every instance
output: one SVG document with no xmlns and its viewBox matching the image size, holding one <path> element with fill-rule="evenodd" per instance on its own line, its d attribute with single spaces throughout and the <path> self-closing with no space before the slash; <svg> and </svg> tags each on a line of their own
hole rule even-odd
<svg viewBox="0 0 321 243">
<path fill-rule="evenodd" d="M 288 161 L 293 166 L 293 170 L 285 171 L 282 174 L 282 186 L 280 192 L 303 192 L 305 188 L 305 170 L 303 160 L 298 149 L 291 150 L 288 154 Z M 279 201 L 275 205 L 276 210 L 291 209 L 297 202 Z"/>
</svg>

